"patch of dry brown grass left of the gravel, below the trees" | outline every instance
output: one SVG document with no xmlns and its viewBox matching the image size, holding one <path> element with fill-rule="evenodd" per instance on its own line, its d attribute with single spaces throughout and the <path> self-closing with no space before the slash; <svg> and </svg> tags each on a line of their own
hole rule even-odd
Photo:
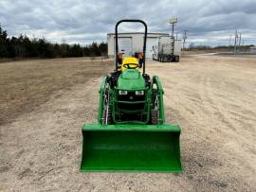
<svg viewBox="0 0 256 192">
<path fill-rule="evenodd" d="M 0 63 L 0 125 L 32 111 L 55 91 L 102 76 L 110 63 L 86 58 Z"/>
</svg>

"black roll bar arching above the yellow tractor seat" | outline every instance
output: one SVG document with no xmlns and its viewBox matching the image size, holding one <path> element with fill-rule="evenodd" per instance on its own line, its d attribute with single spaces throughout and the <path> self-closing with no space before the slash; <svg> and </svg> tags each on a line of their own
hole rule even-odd
<svg viewBox="0 0 256 192">
<path fill-rule="evenodd" d="M 118 59 L 118 54 L 119 54 L 119 24 L 121 23 L 140 23 L 143 24 L 145 26 L 145 32 L 144 32 L 144 44 L 143 44 L 143 56 L 142 56 L 142 61 L 143 61 L 143 75 L 145 74 L 145 55 L 146 55 L 146 43 L 147 43 L 147 34 L 148 34 L 148 27 L 146 25 L 146 23 L 142 20 L 138 20 L 138 19 L 123 19 L 120 20 L 117 24 L 116 24 L 116 28 L 115 28 L 115 37 L 116 37 L 116 71 L 118 71 L 118 64 L 119 64 L 119 59 Z"/>
</svg>

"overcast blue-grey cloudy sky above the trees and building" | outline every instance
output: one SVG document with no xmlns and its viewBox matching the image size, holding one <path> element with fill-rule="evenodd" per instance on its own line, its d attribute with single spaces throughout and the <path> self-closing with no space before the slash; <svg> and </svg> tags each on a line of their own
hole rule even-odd
<svg viewBox="0 0 256 192">
<path fill-rule="evenodd" d="M 0 23 L 9 36 L 27 34 L 52 43 L 106 41 L 123 18 L 144 20 L 150 32 L 170 33 L 173 16 L 180 38 L 180 31 L 189 30 L 188 44 L 229 44 L 236 29 L 245 44 L 256 44 L 256 0 L 0 0 Z"/>
</svg>

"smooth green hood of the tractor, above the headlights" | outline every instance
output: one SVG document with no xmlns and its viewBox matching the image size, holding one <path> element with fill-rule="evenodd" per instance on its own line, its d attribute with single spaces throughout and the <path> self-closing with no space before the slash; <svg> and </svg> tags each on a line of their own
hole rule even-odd
<svg viewBox="0 0 256 192">
<path fill-rule="evenodd" d="M 126 69 L 119 76 L 117 88 L 125 91 L 145 90 L 145 80 L 137 69 Z"/>
</svg>

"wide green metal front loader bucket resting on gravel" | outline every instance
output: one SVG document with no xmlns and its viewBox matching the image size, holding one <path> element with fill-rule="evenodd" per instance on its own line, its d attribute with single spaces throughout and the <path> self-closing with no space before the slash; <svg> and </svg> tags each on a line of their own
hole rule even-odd
<svg viewBox="0 0 256 192">
<path fill-rule="evenodd" d="M 177 125 L 84 125 L 82 171 L 181 172 Z"/>
</svg>

